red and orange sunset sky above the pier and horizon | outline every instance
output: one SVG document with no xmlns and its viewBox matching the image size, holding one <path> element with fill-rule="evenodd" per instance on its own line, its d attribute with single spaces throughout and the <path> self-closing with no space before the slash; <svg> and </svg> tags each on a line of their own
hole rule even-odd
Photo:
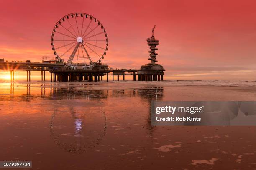
<svg viewBox="0 0 256 170">
<path fill-rule="evenodd" d="M 103 62 L 148 63 L 146 38 L 156 25 L 157 60 L 167 79 L 255 79 L 253 0 L 5 0 L 0 4 L 0 58 L 40 61 L 54 56 L 51 32 L 64 15 L 95 16 L 108 33 Z"/>
</svg>

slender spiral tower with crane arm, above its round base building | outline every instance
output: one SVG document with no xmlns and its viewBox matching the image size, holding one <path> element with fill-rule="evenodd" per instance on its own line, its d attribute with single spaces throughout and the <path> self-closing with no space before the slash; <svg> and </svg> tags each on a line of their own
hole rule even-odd
<svg viewBox="0 0 256 170">
<path fill-rule="evenodd" d="M 156 40 L 154 37 L 154 29 L 155 29 L 156 25 L 154 25 L 154 28 L 152 30 L 152 37 L 147 39 L 148 45 L 150 46 L 150 51 L 148 51 L 150 53 L 150 57 L 148 58 L 148 60 L 151 60 L 151 64 L 155 64 L 155 62 L 157 62 L 156 60 L 156 55 L 157 53 L 155 52 L 156 50 L 158 50 L 156 48 L 157 45 L 159 45 L 159 40 Z"/>
</svg>

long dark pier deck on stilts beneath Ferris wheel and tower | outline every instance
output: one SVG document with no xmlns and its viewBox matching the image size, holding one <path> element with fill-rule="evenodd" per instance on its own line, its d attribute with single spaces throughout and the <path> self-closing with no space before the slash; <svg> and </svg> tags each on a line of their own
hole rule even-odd
<svg viewBox="0 0 256 170">
<path fill-rule="evenodd" d="M 106 81 L 125 80 L 125 76 L 132 76 L 133 81 L 161 81 L 163 75 L 138 74 L 138 69 L 112 69 L 106 70 L 67 70 L 64 63 L 22 62 L 22 61 L 0 61 L 0 71 L 10 71 L 10 80 L 14 81 L 15 71 L 24 71 L 27 81 L 32 80 L 32 71 L 41 72 L 41 81 L 45 81 L 46 72 L 50 72 L 51 82 L 67 81 Z"/>
</svg>

